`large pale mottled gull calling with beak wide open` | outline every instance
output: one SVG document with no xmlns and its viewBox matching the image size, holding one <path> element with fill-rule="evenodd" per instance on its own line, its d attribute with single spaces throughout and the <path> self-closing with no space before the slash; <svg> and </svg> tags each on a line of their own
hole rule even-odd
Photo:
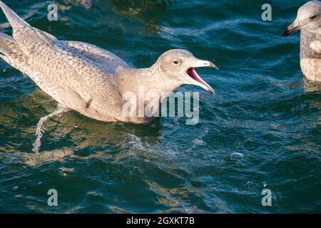
<svg viewBox="0 0 321 228">
<path fill-rule="evenodd" d="M 12 36 L 0 33 L 0 58 L 26 74 L 41 90 L 58 102 L 58 110 L 37 125 L 34 152 L 41 145 L 41 126 L 54 115 L 70 110 L 96 120 L 134 124 L 151 123 L 154 117 L 123 115 L 123 94 L 146 92 L 169 94 L 178 86 L 200 86 L 214 94 L 195 68 L 217 68 L 211 61 L 195 58 L 183 49 L 163 53 L 149 68 L 132 68 L 115 54 L 90 43 L 60 41 L 34 28 L 0 1 L 12 27 Z M 160 103 L 164 96 L 159 96 Z"/>
</svg>

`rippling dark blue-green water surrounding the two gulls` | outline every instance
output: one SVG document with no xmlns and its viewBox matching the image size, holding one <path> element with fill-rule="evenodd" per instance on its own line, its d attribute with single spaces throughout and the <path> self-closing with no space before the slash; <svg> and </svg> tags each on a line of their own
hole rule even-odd
<svg viewBox="0 0 321 228">
<path fill-rule="evenodd" d="M 78 113 L 51 119 L 41 155 L 36 123 L 56 102 L 0 62 L 0 212 L 321 212 L 320 85 L 302 79 L 299 33 L 280 35 L 305 1 L 5 1 L 33 26 L 86 41 L 132 66 L 170 48 L 217 63 L 198 72 L 200 123 L 101 123 Z M 10 2 L 10 3 L 9 3 Z M 1 14 L 1 30 L 10 32 Z M 58 191 L 58 207 L 47 191 Z M 263 207 L 263 189 L 272 207 Z"/>
</svg>

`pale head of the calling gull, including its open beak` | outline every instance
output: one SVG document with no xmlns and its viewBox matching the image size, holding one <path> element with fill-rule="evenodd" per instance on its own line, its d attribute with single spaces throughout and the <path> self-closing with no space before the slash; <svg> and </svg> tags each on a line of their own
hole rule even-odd
<svg viewBox="0 0 321 228">
<path fill-rule="evenodd" d="M 163 53 L 156 62 L 169 78 L 179 81 L 180 84 L 200 86 L 214 94 L 214 90 L 208 83 L 196 73 L 195 68 L 213 67 L 217 68 L 210 61 L 195 58 L 192 53 L 183 49 L 173 49 Z"/>
</svg>

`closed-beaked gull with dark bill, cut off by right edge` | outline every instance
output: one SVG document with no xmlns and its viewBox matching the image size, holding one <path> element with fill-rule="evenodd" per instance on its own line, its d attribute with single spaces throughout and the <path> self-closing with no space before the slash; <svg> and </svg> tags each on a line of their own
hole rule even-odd
<svg viewBox="0 0 321 228">
<path fill-rule="evenodd" d="M 321 81 L 321 1 L 308 1 L 282 36 L 301 30 L 300 66 L 307 79 Z"/>
</svg>

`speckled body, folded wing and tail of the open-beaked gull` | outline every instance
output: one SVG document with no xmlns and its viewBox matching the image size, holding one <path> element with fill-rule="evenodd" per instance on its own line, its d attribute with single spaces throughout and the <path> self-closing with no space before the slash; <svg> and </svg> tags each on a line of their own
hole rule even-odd
<svg viewBox="0 0 321 228">
<path fill-rule="evenodd" d="M 116 71 L 129 66 L 97 46 L 59 41 L 27 24 L 2 1 L 13 38 L 0 33 L 4 61 L 28 75 L 58 103 L 98 120 L 113 121 L 121 112 Z"/>
</svg>

